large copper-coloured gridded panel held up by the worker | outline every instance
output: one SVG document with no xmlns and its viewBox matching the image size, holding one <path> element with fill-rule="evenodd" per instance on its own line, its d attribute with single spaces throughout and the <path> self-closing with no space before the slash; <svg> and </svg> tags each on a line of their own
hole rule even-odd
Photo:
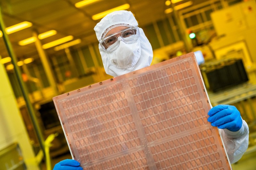
<svg viewBox="0 0 256 170">
<path fill-rule="evenodd" d="M 194 53 L 53 100 L 84 169 L 231 169 Z"/>
</svg>

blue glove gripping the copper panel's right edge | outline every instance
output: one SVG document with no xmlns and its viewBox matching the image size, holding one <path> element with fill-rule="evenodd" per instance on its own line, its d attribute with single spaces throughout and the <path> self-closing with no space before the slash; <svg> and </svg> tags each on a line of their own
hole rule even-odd
<svg viewBox="0 0 256 170">
<path fill-rule="evenodd" d="M 235 132 L 242 127 L 242 118 L 235 106 L 218 105 L 212 107 L 208 115 L 210 116 L 208 121 L 212 122 L 212 126 L 217 126 L 219 129 Z"/>
</svg>

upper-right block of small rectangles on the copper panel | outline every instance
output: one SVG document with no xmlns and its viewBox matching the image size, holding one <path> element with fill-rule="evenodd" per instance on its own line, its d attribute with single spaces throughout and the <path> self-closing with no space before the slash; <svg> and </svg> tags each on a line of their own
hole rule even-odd
<svg viewBox="0 0 256 170">
<path fill-rule="evenodd" d="M 189 62 L 129 80 L 148 142 L 207 123 Z"/>
</svg>

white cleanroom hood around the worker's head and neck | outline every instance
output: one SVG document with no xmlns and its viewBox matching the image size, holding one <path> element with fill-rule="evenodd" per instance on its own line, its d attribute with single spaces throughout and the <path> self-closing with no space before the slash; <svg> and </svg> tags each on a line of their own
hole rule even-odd
<svg viewBox="0 0 256 170">
<path fill-rule="evenodd" d="M 110 26 L 117 24 L 128 24 L 131 26 L 138 26 L 137 20 L 134 18 L 132 12 L 115 11 L 102 18 L 101 21 L 94 27 L 97 39 L 100 41 L 101 36 L 105 32 L 105 30 L 108 29 Z M 117 68 L 115 64 L 108 59 L 107 51 L 102 49 L 99 44 L 103 66 L 108 75 L 111 75 L 113 77 L 120 76 L 134 70 L 142 69 L 151 64 L 153 58 L 153 50 L 151 44 L 149 43 L 143 30 L 141 28 L 139 28 L 139 30 L 140 37 L 137 41 L 140 41 L 141 55 L 138 62 L 130 68 Z"/>
</svg>

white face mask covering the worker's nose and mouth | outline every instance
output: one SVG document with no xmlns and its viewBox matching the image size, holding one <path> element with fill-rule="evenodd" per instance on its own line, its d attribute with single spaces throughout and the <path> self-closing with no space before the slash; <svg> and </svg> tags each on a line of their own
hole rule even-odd
<svg viewBox="0 0 256 170">
<path fill-rule="evenodd" d="M 121 37 L 118 37 L 119 47 L 114 51 L 108 52 L 107 57 L 116 68 L 130 68 L 140 59 L 140 41 L 137 40 L 132 44 L 126 44 L 120 39 Z"/>
</svg>

